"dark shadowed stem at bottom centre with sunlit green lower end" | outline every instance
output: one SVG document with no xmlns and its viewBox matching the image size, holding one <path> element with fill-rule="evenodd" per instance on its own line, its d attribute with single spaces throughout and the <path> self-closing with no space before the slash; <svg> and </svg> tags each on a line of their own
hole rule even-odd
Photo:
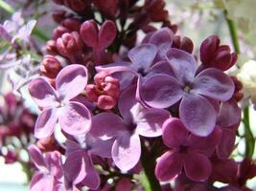
<svg viewBox="0 0 256 191">
<path fill-rule="evenodd" d="M 144 188 L 146 191 L 161 191 L 160 183 L 154 175 L 155 159 L 151 156 L 143 139 L 141 139 L 141 149 L 141 164 L 144 169 L 142 183 Z"/>
</svg>

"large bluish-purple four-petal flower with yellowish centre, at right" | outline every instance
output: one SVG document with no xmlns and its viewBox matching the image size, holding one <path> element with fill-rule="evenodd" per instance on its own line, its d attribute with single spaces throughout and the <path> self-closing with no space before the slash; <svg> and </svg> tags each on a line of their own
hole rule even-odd
<svg viewBox="0 0 256 191">
<path fill-rule="evenodd" d="M 185 127 L 198 136 L 208 136 L 217 118 L 212 103 L 230 99 L 234 92 L 233 81 L 213 68 L 196 75 L 195 58 L 177 49 L 170 49 L 166 60 L 172 69 L 170 74 L 152 74 L 145 78 L 139 88 L 140 99 L 153 108 L 168 108 L 181 100 L 179 117 Z"/>
</svg>

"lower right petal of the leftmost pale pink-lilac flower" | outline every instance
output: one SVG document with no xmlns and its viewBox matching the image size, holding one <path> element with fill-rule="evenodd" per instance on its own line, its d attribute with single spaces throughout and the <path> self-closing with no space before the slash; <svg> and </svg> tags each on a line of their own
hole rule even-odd
<svg viewBox="0 0 256 191">
<path fill-rule="evenodd" d="M 61 129 L 67 134 L 80 135 L 90 130 L 91 114 L 81 103 L 70 101 L 61 107 L 58 122 Z"/>
</svg>

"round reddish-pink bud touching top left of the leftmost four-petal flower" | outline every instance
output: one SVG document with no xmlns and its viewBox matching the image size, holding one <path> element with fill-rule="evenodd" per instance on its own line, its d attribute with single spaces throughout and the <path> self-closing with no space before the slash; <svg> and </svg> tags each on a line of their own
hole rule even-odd
<svg viewBox="0 0 256 191">
<path fill-rule="evenodd" d="M 46 55 L 41 62 L 40 72 L 49 78 L 55 78 L 61 68 L 61 63 L 55 56 Z"/>
</svg>

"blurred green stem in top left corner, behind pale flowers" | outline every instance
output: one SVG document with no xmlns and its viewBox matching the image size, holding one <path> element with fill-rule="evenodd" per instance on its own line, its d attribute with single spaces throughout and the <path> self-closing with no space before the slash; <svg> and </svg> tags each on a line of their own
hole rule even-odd
<svg viewBox="0 0 256 191">
<path fill-rule="evenodd" d="M 5 1 L 0 0 L 0 9 L 7 11 L 10 14 L 13 14 L 15 12 L 15 10 L 12 8 L 12 6 L 10 6 L 9 4 L 7 4 Z M 49 37 L 44 33 L 41 32 L 38 28 L 35 27 L 35 29 L 32 32 L 36 37 L 38 37 L 39 39 L 41 39 L 42 41 L 47 41 L 49 40 Z"/>
</svg>

